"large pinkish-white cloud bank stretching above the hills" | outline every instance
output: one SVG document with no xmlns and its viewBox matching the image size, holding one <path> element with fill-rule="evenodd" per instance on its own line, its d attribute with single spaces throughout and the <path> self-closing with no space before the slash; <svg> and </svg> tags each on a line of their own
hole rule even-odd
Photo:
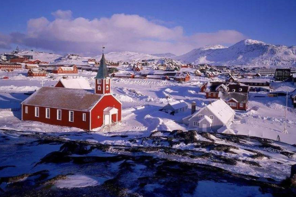
<svg viewBox="0 0 296 197">
<path fill-rule="evenodd" d="M 168 28 L 139 15 L 114 14 L 110 18 L 71 19 L 70 10 L 52 13 L 55 20 L 30 19 L 18 43 L 57 53 L 96 55 L 102 44 L 107 51 L 183 54 L 209 44 L 233 44 L 246 38 L 235 30 L 184 35 L 183 27 Z M 14 36 L 15 40 L 18 38 Z"/>
</svg>

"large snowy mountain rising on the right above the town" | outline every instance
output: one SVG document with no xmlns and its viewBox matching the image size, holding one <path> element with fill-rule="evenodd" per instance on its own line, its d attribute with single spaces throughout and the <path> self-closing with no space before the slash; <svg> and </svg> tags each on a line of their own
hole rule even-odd
<svg viewBox="0 0 296 197">
<path fill-rule="evenodd" d="M 194 64 L 296 66 L 296 46 L 266 44 L 258 40 L 242 40 L 230 47 L 206 46 L 174 59 Z"/>
</svg>

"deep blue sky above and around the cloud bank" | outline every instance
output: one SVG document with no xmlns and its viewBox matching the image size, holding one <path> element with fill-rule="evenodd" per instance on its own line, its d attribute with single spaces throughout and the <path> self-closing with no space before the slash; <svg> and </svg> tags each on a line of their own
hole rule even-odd
<svg viewBox="0 0 296 197">
<path fill-rule="evenodd" d="M 138 15 L 153 24 L 169 29 L 182 27 L 183 38 L 195 33 L 233 30 L 243 35 L 237 39 L 243 37 L 272 44 L 296 45 L 296 0 L 6 0 L 1 2 L 1 6 L 3 7 L 0 12 L 2 35 L 18 32 L 27 36 L 27 22 L 30 19 L 45 17 L 52 22 L 55 20 L 52 13 L 60 9 L 71 10 L 73 20 L 82 17 L 91 21 L 95 18 L 111 18 L 114 14 L 121 13 Z M 104 30 L 101 28 L 100 31 Z M 159 40 L 159 37 L 140 39 Z M 170 42 L 171 39 L 175 38 L 168 38 L 169 41 L 166 41 Z M 174 42 L 180 40 L 176 38 Z M 217 44 L 231 45 L 235 41 L 237 40 L 223 43 L 218 41 L 220 43 Z M 13 44 L 14 41 L 11 42 Z M 28 45 L 27 42 L 22 43 Z M 207 42 L 196 43 L 196 48 L 201 44 L 207 44 Z M 46 49 L 46 44 L 41 46 Z M 187 48 L 190 50 L 195 47 L 190 45 Z M 187 48 L 173 52 L 183 53 Z M 130 49 L 137 48 L 130 47 Z M 48 47 L 48 50 L 68 52 L 68 49 L 55 49 L 52 46 Z"/>
</svg>

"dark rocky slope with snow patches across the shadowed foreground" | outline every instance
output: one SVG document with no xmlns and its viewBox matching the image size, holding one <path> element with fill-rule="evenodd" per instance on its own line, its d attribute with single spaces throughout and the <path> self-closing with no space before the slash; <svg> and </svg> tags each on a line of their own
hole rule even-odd
<svg viewBox="0 0 296 197">
<path fill-rule="evenodd" d="M 131 144 L 122 145 L 13 132 L 0 133 L 3 197 L 296 196 L 296 147 L 272 140 L 179 130 L 110 136 Z"/>
</svg>

